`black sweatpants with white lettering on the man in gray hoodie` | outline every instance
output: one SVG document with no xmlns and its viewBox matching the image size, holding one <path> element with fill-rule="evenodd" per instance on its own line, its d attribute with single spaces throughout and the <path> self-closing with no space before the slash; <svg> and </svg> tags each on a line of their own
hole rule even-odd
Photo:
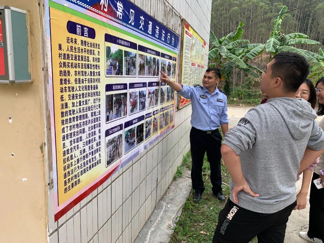
<svg viewBox="0 0 324 243">
<path fill-rule="evenodd" d="M 282 243 L 288 218 L 296 205 L 295 201 L 276 213 L 262 214 L 241 208 L 228 199 L 218 215 L 213 242 L 248 243 L 257 236 L 259 243 Z"/>
</svg>

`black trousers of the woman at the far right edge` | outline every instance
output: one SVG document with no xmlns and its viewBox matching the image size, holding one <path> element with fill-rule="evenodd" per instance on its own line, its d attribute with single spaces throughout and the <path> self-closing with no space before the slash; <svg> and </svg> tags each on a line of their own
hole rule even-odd
<svg viewBox="0 0 324 243">
<path fill-rule="evenodd" d="M 313 180 L 319 175 L 313 173 L 309 194 L 309 238 L 319 238 L 324 240 L 324 188 L 317 189 Z"/>
</svg>

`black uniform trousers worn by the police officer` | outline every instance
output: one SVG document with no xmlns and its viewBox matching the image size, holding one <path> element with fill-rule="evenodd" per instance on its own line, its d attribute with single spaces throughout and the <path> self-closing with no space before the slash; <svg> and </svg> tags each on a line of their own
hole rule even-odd
<svg viewBox="0 0 324 243">
<path fill-rule="evenodd" d="M 210 181 L 213 185 L 213 193 L 217 194 L 222 191 L 222 174 L 221 174 L 221 145 L 222 135 L 218 129 L 206 133 L 191 128 L 190 146 L 191 146 L 191 182 L 192 188 L 196 193 L 203 193 L 205 187 L 203 185 L 203 158 L 207 152 L 207 158 L 210 164 Z"/>
</svg>

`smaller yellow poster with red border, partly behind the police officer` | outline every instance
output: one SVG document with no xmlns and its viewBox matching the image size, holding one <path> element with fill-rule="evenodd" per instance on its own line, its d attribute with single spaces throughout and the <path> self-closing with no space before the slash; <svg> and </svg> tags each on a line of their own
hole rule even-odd
<svg viewBox="0 0 324 243">
<path fill-rule="evenodd" d="M 205 65 L 206 41 L 192 29 L 189 23 L 182 19 L 181 53 L 179 83 L 193 86 L 202 85 L 202 78 L 207 65 Z M 179 95 L 178 109 L 190 104 L 191 100 Z"/>
</svg>

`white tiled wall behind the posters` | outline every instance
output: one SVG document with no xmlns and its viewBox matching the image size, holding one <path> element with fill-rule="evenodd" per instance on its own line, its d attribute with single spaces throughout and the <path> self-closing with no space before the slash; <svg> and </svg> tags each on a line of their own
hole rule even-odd
<svg viewBox="0 0 324 243">
<path fill-rule="evenodd" d="M 208 46 L 212 0 L 131 1 L 179 35 L 184 17 Z M 58 222 L 54 222 L 53 191 L 49 190 L 49 242 L 133 242 L 190 149 L 190 117 L 190 105 L 177 110 L 171 132 L 111 176 Z"/>
</svg>

